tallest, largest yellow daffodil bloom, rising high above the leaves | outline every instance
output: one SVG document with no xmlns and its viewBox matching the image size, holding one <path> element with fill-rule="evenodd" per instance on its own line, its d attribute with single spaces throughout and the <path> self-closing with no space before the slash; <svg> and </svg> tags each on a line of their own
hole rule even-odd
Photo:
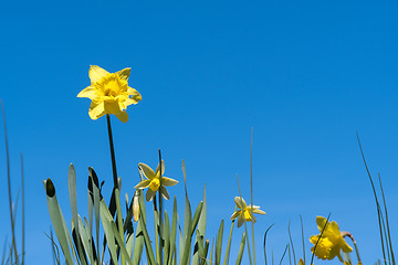
<svg viewBox="0 0 398 265">
<path fill-rule="evenodd" d="M 92 119 L 97 119 L 105 114 L 114 114 L 123 123 L 128 120 L 125 109 L 128 105 L 137 104 L 142 99 L 140 94 L 127 84 L 129 74 L 130 68 L 108 73 L 97 65 L 90 67 L 91 85 L 81 91 L 77 97 L 92 99 L 88 109 Z"/>
</svg>

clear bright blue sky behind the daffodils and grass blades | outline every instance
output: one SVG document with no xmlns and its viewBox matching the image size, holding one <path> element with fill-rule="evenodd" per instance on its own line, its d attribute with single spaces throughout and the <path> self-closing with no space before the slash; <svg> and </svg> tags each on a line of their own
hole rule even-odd
<svg viewBox="0 0 398 265">
<path fill-rule="evenodd" d="M 165 176 L 180 181 L 168 191 L 182 210 L 185 159 L 195 206 L 207 186 L 212 239 L 233 212 L 237 173 L 249 201 L 254 127 L 254 204 L 268 213 L 255 225 L 259 263 L 272 223 L 268 250 L 279 262 L 290 220 L 302 255 L 300 214 L 308 258 L 315 218 L 329 212 L 356 237 L 364 264 L 375 263 L 381 257 L 377 214 L 355 132 L 371 173 L 381 173 L 398 243 L 397 12 L 390 0 L 1 3 L 0 98 L 14 200 L 24 156 L 27 262 L 52 264 L 43 179 L 54 181 L 67 220 L 70 162 L 82 215 L 88 166 L 105 180 L 105 193 L 111 190 L 106 119 L 91 120 L 90 99 L 76 97 L 94 64 L 109 72 L 132 67 L 129 85 L 143 95 L 128 107 L 127 124 L 112 119 L 122 193 L 133 194 L 138 162 L 155 168 L 161 148 Z M 2 126 L 0 136 L 3 242 L 11 233 Z M 235 230 L 235 246 L 241 233 Z"/>
</svg>

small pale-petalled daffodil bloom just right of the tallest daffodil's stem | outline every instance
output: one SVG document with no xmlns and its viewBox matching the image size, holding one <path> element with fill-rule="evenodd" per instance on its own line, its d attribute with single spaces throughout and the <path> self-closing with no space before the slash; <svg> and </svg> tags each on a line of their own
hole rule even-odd
<svg viewBox="0 0 398 265">
<path fill-rule="evenodd" d="M 177 180 L 170 179 L 170 178 L 166 178 L 163 177 L 164 172 L 165 172 L 165 161 L 161 160 L 161 163 L 158 165 L 156 172 L 154 172 L 154 170 L 151 168 L 149 168 L 147 165 L 145 163 L 139 163 L 138 167 L 143 170 L 144 176 L 147 178 L 146 180 L 143 180 L 142 182 L 139 182 L 136 187 L 134 187 L 135 189 L 145 189 L 148 188 L 148 191 L 145 195 L 147 201 L 151 201 L 157 192 L 157 190 L 160 187 L 160 179 L 161 179 L 161 188 L 160 188 L 160 194 L 168 200 L 170 197 L 165 188 L 165 186 L 175 186 L 178 183 Z M 160 170 L 161 169 L 161 170 Z M 161 171 L 161 178 L 160 178 L 160 171 Z"/>
</svg>

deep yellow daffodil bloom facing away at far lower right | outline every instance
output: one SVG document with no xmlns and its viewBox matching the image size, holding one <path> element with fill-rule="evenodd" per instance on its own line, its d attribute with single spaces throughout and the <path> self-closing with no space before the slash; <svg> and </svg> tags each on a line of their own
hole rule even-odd
<svg viewBox="0 0 398 265">
<path fill-rule="evenodd" d="M 323 216 L 316 218 L 316 224 L 321 232 L 324 229 L 326 222 L 327 220 Z M 321 234 L 310 237 L 311 243 L 314 244 L 314 246 L 311 248 L 312 252 L 314 252 L 315 244 L 318 241 L 320 235 Z M 353 248 L 343 239 L 338 229 L 338 224 L 333 221 L 326 224 L 322 237 L 316 246 L 315 256 L 322 259 L 333 259 L 335 256 L 337 256 L 338 259 L 343 263 L 341 251 L 348 253 L 352 252 Z"/>
</svg>

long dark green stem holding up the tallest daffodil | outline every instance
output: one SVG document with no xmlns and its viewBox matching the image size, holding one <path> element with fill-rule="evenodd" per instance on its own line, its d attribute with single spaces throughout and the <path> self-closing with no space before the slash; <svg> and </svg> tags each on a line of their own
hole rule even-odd
<svg viewBox="0 0 398 265">
<path fill-rule="evenodd" d="M 122 206 L 121 206 L 121 192 L 119 192 L 119 184 L 117 181 L 117 170 L 116 170 L 116 157 L 115 157 L 115 148 L 113 144 L 113 136 L 112 136 L 112 126 L 111 126 L 111 117 L 106 115 L 107 121 L 107 130 L 109 137 L 109 148 L 111 148 L 111 160 L 112 160 L 112 172 L 113 172 L 113 180 L 114 180 L 114 191 L 115 191 L 115 201 L 116 201 L 116 219 L 117 219 L 117 227 L 121 234 L 122 241 L 124 243 L 124 231 L 123 231 L 123 216 L 122 216 Z M 126 264 L 125 256 L 121 252 L 122 257 L 122 265 Z"/>
</svg>

